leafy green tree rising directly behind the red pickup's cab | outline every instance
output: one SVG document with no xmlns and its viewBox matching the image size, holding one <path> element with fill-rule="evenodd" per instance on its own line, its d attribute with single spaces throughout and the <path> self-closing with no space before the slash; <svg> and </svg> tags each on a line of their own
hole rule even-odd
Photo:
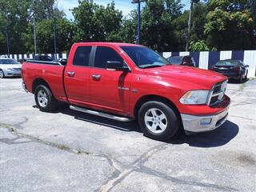
<svg viewBox="0 0 256 192">
<path fill-rule="evenodd" d="M 122 11 L 115 10 L 114 2 L 106 7 L 93 1 L 78 1 L 72 10 L 77 26 L 76 41 L 120 41 L 118 30 L 122 23 Z"/>
</svg>

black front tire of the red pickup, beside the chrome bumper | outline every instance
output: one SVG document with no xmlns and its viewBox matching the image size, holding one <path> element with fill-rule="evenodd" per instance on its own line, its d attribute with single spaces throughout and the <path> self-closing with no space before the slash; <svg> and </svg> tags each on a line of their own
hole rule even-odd
<svg viewBox="0 0 256 192">
<path fill-rule="evenodd" d="M 150 115 L 149 110 L 151 109 L 158 109 L 160 114 L 162 112 L 166 115 L 166 129 L 163 130 L 162 133 L 154 133 L 148 128 L 148 126 L 150 126 L 150 122 L 146 122 L 144 118 L 146 115 Z M 152 124 L 153 123 L 154 122 L 152 122 Z M 166 105 L 166 103 L 160 101 L 145 102 L 140 107 L 138 110 L 138 124 L 146 137 L 153 138 L 158 141 L 168 141 L 171 138 L 174 138 L 174 136 L 178 134 L 178 130 L 181 129 L 180 118 L 178 118 L 178 114 L 175 113 L 175 110 L 171 106 Z M 159 128 L 160 126 L 158 126 L 158 129 Z"/>
</svg>

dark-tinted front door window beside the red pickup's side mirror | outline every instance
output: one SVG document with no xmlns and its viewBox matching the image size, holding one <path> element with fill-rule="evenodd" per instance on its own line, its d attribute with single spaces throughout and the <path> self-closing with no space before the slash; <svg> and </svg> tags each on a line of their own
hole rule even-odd
<svg viewBox="0 0 256 192">
<path fill-rule="evenodd" d="M 106 46 L 98 46 L 95 55 L 94 67 L 106 68 L 108 61 L 123 62 L 121 56 L 112 48 Z"/>
</svg>

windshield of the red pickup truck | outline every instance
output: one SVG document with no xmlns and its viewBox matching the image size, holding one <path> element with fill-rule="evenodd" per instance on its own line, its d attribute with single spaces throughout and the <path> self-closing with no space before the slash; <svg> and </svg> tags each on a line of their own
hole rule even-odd
<svg viewBox="0 0 256 192">
<path fill-rule="evenodd" d="M 140 68 L 166 66 L 168 62 L 159 54 L 144 46 L 121 46 L 133 62 Z"/>
</svg>

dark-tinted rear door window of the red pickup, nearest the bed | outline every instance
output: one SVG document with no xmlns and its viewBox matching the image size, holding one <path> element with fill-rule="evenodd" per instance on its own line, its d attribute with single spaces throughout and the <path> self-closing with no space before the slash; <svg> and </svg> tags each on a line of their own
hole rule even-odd
<svg viewBox="0 0 256 192">
<path fill-rule="evenodd" d="M 89 66 L 91 46 L 78 46 L 74 54 L 74 66 Z"/>
</svg>

